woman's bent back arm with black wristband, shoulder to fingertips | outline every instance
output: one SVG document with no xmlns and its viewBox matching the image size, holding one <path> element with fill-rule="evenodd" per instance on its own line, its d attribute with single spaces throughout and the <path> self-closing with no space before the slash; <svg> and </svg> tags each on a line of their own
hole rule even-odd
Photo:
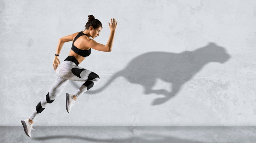
<svg viewBox="0 0 256 143">
<path fill-rule="evenodd" d="M 55 52 L 56 55 L 59 55 L 59 53 L 61 51 L 61 48 L 62 48 L 62 46 L 64 45 L 65 42 L 69 42 L 69 41 L 73 40 L 73 37 L 74 37 L 75 34 L 77 34 L 77 33 L 74 33 L 74 34 L 71 34 L 71 35 L 68 35 L 68 36 L 65 36 L 65 37 L 62 37 L 62 38 L 59 39 L 59 42 L 58 42 L 58 45 L 57 45 L 57 48 L 56 48 L 56 52 Z M 55 71 L 58 67 L 58 64 L 60 64 L 59 57 L 55 56 L 54 59 L 53 59 L 53 68 L 54 68 Z"/>
</svg>

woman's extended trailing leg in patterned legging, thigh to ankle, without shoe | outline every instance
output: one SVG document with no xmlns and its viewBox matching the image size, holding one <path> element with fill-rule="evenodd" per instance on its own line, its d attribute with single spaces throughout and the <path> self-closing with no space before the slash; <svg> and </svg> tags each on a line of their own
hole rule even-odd
<svg viewBox="0 0 256 143">
<path fill-rule="evenodd" d="M 37 104 L 37 106 L 35 107 L 35 110 L 33 111 L 29 119 L 34 121 L 35 118 L 38 116 L 38 114 L 41 113 L 46 108 L 47 105 L 49 105 L 50 103 L 53 103 L 53 101 L 63 91 L 67 83 L 68 83 L 67 79 L 62 78 L 60 76 L 56 76 L 56 79 L 52 87 L 50 88 L 48 94 L 41 102 Z"/>
</svg>

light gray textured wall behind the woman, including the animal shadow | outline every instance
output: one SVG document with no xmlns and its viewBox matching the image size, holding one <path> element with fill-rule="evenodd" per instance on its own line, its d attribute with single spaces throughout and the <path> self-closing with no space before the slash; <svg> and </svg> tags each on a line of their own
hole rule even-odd
<svg viewBox="0 0 256 143">
<path fill-rule="evenodd" d="M 255 0 L 0 1 L 0 125 L 31 115 L 89 14 L 102 44 L 118 21 L 112 52 L 79 64 L 101 80 L 67 113 L 69 81 L 35 125 L 256 125 Z"/>
</svg>

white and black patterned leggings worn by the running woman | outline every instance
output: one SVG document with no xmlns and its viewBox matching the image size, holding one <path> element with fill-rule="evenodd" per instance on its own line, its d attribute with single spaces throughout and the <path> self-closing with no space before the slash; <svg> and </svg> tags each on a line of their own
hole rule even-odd
<svg viewBox="0 0 256 143">
<path fill-rule="evenodd" d="M 89 70 L 78 66 L 78 61 L 74 56 L 68 56 L 57 68 L 56 79 L 50 88 L 46 97 L 37 104 L 35 110 L 29 119 L 35 120 L 37 115 L 41 113 L 47 105 L 60 95 L 69 80 L 85 81 L 85 83 L 75 92 L 75 97 L 78 98 L 81 94 L 89 90 L 99 82 L 99 76 Z"/>
</svg>

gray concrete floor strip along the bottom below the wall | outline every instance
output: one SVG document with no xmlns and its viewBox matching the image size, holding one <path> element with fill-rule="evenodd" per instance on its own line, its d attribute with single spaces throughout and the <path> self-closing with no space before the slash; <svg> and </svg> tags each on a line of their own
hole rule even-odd
<svg viewBox="0 0 256 143">
<path fill-rule="evenodd" d="M 256 126 L 0 126 L 1 143 L 256 143 Z"/>
</svg>

